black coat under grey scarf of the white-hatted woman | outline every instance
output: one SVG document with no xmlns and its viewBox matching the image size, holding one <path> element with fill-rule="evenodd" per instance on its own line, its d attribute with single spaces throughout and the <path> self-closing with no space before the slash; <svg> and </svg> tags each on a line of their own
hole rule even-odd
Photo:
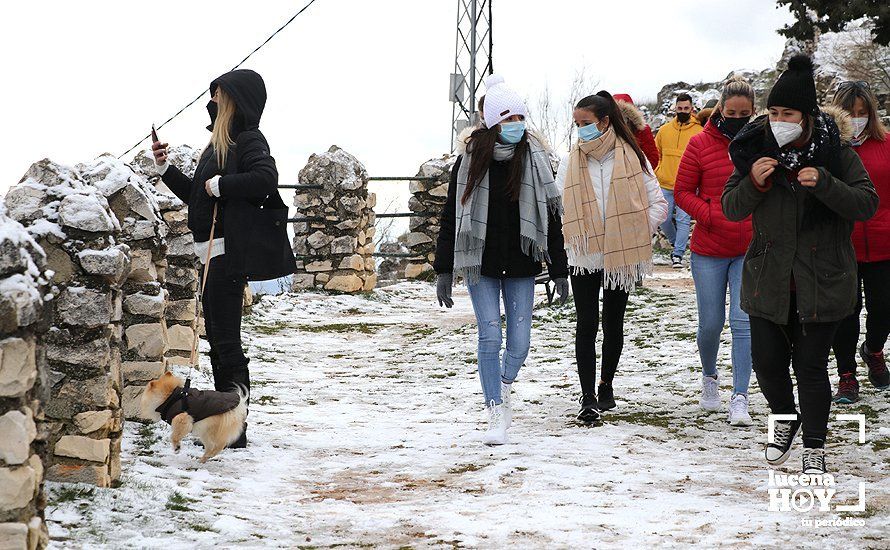
<svg viewBox="0 0 890 550">
<path fill-rule="evenodd" d="M 448 198 L 439 218 L 439 238 L 436 241 L 436 273 L 454 271 L 455 209 L 457 206 L 457 172 L 463 156 L 457 158 L 451 170 Z M 542 271 L 541 262 L 535 261 L 522 251 L 519 236 L 519 202 L 507 196 L 509 163 L 492 161 L 488 170 L 490 196 L 488 225 L 485 232 L 485 250 L 482 252 L 482 276 L 495 279 L 534 277 Z M 550 214 L 547 232 L 547 264 L 551 280 L 569 276 L 568 259 L 562 238 L 562 220 Z"/>
</svg>

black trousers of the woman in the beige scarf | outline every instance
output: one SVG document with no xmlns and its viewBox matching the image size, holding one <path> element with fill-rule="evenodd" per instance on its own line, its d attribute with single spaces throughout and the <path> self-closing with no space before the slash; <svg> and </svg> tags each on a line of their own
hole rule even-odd
<svg viewBox="0 0 890 550">
<path fill-rule="evenodd" d="M 578 378 L 581 391 L 595 393 L 596 386 L 596 334 L 600 323 L 600 287 L 603 272 L 572 275 L 572 294 L 575 296 L 575 360 L 578 362 Z M 603 289 L 603 382 L 612 383 L 621 350 L 624 348 L 624 311 L 630 294 L 623 290 Z"/>
</svg>

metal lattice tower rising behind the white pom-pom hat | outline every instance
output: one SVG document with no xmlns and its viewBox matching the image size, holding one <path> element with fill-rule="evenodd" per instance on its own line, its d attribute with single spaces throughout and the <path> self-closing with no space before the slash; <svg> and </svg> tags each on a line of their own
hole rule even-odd
<svg viewBox="0 0 890 550">
<path fill-rule="evenodd" d="M 482 79 L 494 72 L 491 61 L 491 3 L 493 0 L 457 0 L 457 40 L 451 74 L 451 150 L 457 136 L 476 124 L 476 101 Z"/>
</svg>

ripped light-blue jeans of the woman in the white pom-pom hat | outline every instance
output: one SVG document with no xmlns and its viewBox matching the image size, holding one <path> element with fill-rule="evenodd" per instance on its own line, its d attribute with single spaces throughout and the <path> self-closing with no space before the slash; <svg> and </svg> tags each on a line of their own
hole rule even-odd
<svg viewBox="0 0 890 550">
<path fill-rule="evenodd" d="M 467 287 L 479 329 L 479 380 L 485 404 L 501 404 L 501 381 L 511 384 L 528 357 L 535 305 L 535 278 L 482 277 Z M 507 317 L 507 349 L 501 356 L 501 296 Z"/>
</svg>

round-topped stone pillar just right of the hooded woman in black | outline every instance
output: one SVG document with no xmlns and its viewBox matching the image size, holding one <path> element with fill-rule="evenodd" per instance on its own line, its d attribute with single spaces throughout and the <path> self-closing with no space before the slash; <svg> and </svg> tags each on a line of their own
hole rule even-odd
<svg viewBox="0 0 890 550">
<path fill-rule="evenodd" d="M 319 288 L 337 292 L 374 289 L 377 275 L 374 248 L 374 206 L 368 192 L 368 173 L 352 155 L 332 146 L 312 155 L 300 170 L 299 183 L 319 185 L 301 189 L 294 197 L 294 289 Z"/>
</svg>

